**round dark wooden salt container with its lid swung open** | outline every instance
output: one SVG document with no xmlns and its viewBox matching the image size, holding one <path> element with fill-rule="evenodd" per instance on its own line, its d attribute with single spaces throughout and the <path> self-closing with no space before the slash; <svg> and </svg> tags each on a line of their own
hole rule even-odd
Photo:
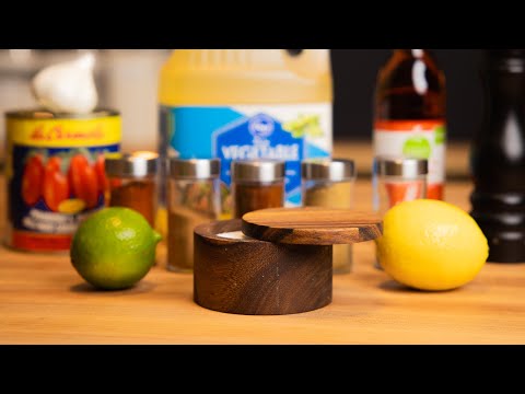
<svg viewBox="0 0 525 394">
<path fill-rule="evenodd" d="M 242 230 L 242 231 L 241 231 Z M 249 237 L 245 234 L 249 234 Z M 331 302 L 332 244 L 381 235 L 373 213 L 276 208 L 194 232 L 194 299 L 219 312 L 281 315 Z"/>
</svg>

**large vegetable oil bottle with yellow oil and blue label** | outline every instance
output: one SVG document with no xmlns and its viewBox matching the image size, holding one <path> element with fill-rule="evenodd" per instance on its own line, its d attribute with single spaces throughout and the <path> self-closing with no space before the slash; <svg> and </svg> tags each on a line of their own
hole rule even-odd
<svg viewBox="0 0 525 394">
<path fill-rule="evenodd" d="M 223 218 L 232 161 L 284 160 L 285 205 L 300 206 L 301 161 L 331 155 L 328 49 L 175 49 L 159 101 L 161 158 L 221 160 Z"/>
</svg>

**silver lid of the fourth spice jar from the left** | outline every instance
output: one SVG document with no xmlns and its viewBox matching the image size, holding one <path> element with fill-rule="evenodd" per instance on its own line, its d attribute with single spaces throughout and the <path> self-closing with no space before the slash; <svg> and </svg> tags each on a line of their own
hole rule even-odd
<svg viewBox="0 0 525 394">
<path fill-rule="evenodd" d="M 308 159 L 301 164 L 302 177 L 305 181 L 352 181 L 357 176 L 353 160 L 346 159 Z"/>
</svg>

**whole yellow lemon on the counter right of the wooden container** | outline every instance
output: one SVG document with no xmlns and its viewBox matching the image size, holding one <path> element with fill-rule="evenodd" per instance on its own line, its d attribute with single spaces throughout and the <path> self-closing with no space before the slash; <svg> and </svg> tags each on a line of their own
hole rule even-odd
<svg viewBox="0 0 525 394">
<path fill-rule="evenodd" d="M 476 221 L 451 204 L 419 199 L 390 208 L 376 240 L 384 270 L 420 290 L 451 290 L 471 281 L 489 256 Z"/>
</svg>

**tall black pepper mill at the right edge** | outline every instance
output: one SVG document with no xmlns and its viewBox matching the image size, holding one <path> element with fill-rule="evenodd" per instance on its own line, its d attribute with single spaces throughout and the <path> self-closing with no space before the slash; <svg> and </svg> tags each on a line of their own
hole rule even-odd
<svg viewBox="0 0 525 394">
<path fill-rule="evenodd" d="M 485 121 L 471 147 L 470 215 L 489 262 L 525 262 L 525 49 L 487 50 Z"/>
</svg>

